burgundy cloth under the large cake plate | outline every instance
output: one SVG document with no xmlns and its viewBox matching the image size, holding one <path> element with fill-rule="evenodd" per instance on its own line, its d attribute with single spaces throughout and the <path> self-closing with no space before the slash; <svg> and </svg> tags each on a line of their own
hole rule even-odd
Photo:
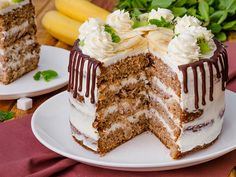
<svg viewBox="0 0 236 177">
<path fill-rule="evenodd" d="M 236 92 L 236 43 L 227 43 L 227 89 Z M 235 78 L 235 79 L 234 79 Z M 0 177 L 226 177 L 236 165 L 236 150 L 210 162 L 163 172 L 124 172 L 85 165 L 62 157 L 34 137 L 31 116 L 0 124 Z"/>
</svg>

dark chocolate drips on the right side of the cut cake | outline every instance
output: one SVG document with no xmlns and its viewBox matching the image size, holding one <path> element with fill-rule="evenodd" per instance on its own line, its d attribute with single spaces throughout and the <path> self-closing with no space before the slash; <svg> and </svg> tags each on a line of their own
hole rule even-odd
<svg viewBox="0 0 236 177">
<path fill-rule="evenodd" d="M 179 69 L 183 73 L 183 90 L 184 93 L 188 93 L 188 68 L 191 68 L 193 71 L 193 82 L 194 82 L 194 95 L 195 95 L 195 108 L 199 108 L 199 93 L 198 93 L 198 70 L 199 68 L 202 79 L 202 105 L 206 104 L 206 71 L 204 67 L 204 63 L 207 63 L 209 68 L 210 75 L 210 89 L 209 89 L 209 100 L 213 101 L 213 92 L 214 92 L 214 81 L 213 81 L 213 67 L 216 69 L 216 77 L 221 78 L 222 82 L 222 90 L 225 90 L 226 82 L 228 80 L 228 57 L 227 52 L 224 45 L 217 40 L 214 40 L 216 44 L 216 51 L 214 55 L 210 59 L 201 59 L 194 63 L 180 65 Z"/>
</svg>

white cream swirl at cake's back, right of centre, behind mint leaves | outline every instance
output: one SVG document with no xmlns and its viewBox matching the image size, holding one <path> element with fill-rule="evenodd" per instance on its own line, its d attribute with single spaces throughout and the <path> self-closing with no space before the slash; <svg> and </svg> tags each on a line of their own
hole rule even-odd
<svg viewBox="0 0 236 177">
<path fill-rule="evenodd" d="M 174 15 L 171 10 L 158 8 L 157 10 L 152 9 L 148 14 L 148 20 L 158 19 L 160 20 L 163 17 L 166 21 L 171 22 L 174 19 Z"/>
</svg>

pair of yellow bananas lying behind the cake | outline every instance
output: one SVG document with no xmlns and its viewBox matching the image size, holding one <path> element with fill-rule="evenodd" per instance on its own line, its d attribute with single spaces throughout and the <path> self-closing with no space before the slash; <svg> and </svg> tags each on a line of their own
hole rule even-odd
<svg viewBox="0 0 236 177">
<path fill-rule="evenodd" d="M 109 12 L 88 0 L 55 0 L 57 10 L 49 11 L 42 19 L 43 26 L 58 40 L 73 45 L 79 27 L 90 17 L 105 20 Z"/>
</svg>

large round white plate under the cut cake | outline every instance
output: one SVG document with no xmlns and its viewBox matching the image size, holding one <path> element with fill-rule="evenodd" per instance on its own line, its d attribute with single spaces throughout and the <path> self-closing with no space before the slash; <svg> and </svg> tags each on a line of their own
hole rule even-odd
<svg viewBox="0 0 236 177">
<path fill-rule="evenodd" d="M 151 133 L 135 137 L 104 157 L 84 149 L 71 137 L 67 96 L 67 92 L 62 92 L 41 105 L 33 115 L 32 130 L 52 151 L 86 164 L 116 170 L 160 171 L 200 164 L 236 149 L 236 94 L 231 91 L 226 91 L 225 122 L 218 140 L 180 160 L 172 160 L 169 150 Z"/>
</svg>

